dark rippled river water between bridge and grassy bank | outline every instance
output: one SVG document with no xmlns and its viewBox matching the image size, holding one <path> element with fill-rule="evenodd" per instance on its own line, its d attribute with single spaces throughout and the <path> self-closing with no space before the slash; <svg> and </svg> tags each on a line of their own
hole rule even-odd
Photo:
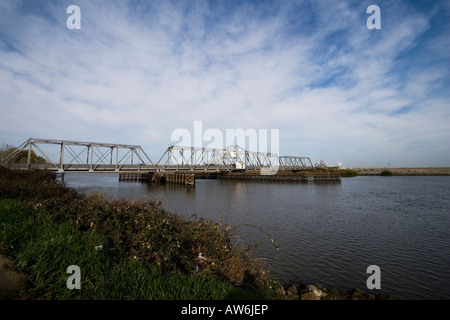
<svg viewBox="0 0 450 320">
<path fill-rule="evenodd" d="M 282 281 L 366 289 L 367 267 L 377 265 L 387 294 L 450 298 L 449 177 L 197 180 L 195 188 L 119 182 L 116 174 L 66 174 L 65 181 L 82 192 L 162 200 L 169 211 L 236 226 L 241 244 L 263 242 L 255 254 Z"/>
</svg>

